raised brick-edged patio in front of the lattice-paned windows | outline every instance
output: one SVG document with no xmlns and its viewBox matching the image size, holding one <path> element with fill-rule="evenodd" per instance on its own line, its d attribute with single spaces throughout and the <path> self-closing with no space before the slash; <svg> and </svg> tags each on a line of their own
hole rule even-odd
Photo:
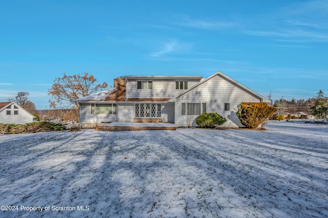
<svg viewBox="0 0 328 218">
<path fill-rule="evenodd" d="M 112 122 L 97 125 L 97 131 L 133 131 L 133 130 L 176 130 L 172 123 L 138 123 L 138 122 Z"/>
</svg>

